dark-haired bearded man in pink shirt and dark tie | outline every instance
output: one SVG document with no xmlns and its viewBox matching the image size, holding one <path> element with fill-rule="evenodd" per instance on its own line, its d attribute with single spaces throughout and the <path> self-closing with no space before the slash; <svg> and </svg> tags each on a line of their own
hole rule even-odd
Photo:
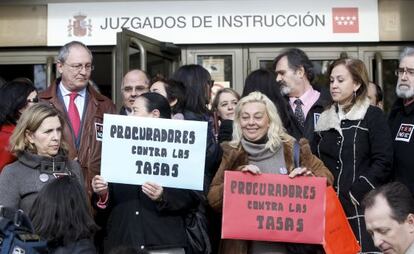
<svg viewBox="0 0 414 254">
<path fill-rule="evenodd" d="M 300 49 L 283 51 L 273 61 L 273 68 L 294 115 L 292 135 L 296 139 L 304 137 L 311 141 L 320 114 L 331 102 L 329 91 L 318 91 L 312 86 L 315 77 L 313 64 Z"/>
</svg>

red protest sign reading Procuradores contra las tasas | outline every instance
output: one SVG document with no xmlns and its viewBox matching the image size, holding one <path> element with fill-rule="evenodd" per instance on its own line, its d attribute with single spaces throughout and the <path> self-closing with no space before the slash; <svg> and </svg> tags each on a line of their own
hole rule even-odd
<svg viewBox="0 0 414 254">
<path fill-rule="evenodd" d="M 226 171 L 222 238 L 322 244 L 326 178 Z"/>
</svg>

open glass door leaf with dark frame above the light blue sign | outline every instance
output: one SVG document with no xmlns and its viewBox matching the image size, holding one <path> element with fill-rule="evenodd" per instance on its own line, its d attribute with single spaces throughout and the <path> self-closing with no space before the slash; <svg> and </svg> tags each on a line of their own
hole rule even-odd
<svg viewBox="0 0 414 254">
<path fill-rule="evenodd" d="M 117 33 L 116 44 L 116 85 L 113 86 L 115 104 L 121 106 L 120 86 L 123 76 L 131 69 L 146 71 L 150 77 L 169 77 L 179 66 L 181 50 L 172 43 L 160 42 L 153 38 L 127 29 Z"/>
</svg>

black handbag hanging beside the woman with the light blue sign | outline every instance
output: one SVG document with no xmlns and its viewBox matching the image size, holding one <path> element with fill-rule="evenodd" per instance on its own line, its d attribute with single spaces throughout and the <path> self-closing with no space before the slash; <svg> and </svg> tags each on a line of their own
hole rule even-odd
<svg viewBox="0 0 414 254">
<path fill-rule="evenodd" d="M 184 220 L 187 235 L 186 254 L 211 254 L 204 202 L 201 201 L 196 209 L 185 216 Z"/>
</svg>

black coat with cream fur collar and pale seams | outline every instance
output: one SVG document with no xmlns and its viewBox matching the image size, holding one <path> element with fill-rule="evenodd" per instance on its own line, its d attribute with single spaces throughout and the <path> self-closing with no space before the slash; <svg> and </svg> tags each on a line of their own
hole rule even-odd
<svg viewBox="0 0 414 254">
<path fill-rule="evenodd" d="M 362 253 L 378 251 L 365 229 L 360 202 L 390 179 L 392 143 L 385 115 L 366 99 L 340 120 L 333 105 L 321 114 L 315 132 L 313 149 L 334 175 L 334 187 Z"/>
</svg>

